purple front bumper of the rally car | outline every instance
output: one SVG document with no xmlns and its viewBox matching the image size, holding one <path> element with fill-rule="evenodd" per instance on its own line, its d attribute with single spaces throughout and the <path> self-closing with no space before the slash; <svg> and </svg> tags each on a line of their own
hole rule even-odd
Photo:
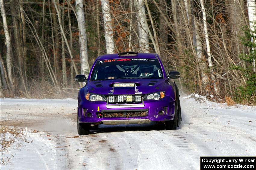
<svg viewBox="0 0 256 170">
<path fill-rule="evenodd" d="M 105 112 L 126 112 L 129 111 L 147 111 L 146 115 L 142 116 L 122 116 L 122 117 L 104 117 Z M 88 100 L 81 100 L 78 103 L 78 122 L 79 123 L 103 123 L 103 124 L 142 124 L 150 123 L 150 121 L 168 121 L 173 120 L 175 110 L 175 101 L 165 96 L 161 100 L 145 100 L 139 104 L 109 104 L 106 102 L 97 101 L 90 102 Z M 87 113 L 91 113 L 88 117 Z M 99 114 L 103 117 L 99 117 Z M 90 114 L 89 114 L 90 115 Z M 128 114 L 129 115 L 129 114 Z"/>
</svg>

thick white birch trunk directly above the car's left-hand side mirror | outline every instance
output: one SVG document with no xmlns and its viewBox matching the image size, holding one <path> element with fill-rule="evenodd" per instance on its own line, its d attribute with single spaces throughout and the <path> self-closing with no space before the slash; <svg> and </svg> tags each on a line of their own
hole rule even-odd
<svg viewBox="0 0 256 170">
<path fill-rule="evenodd" d="M 77 15 L 77 22 L 78 22 L 78 29 L 79 29 L 81 74 L 85 74 L 86 76 L 88 76 L 90 67 L 88 63 L 86 28 L 85 28 L 85 19 L 84 19 L 84 12 L 83 12 L 83 0 L 76 0 L 76 15 Z"/>
</svg>

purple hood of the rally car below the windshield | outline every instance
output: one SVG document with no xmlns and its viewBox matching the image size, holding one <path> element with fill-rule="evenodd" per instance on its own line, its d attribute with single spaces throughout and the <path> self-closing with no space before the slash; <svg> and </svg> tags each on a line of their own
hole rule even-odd
<svg viewBox="0 0 256 170">
<path fill-rule="evenodd" d="M 135 87 L 114 87 L 114 83 L 136 83 Z M 114 79 L 87 82 L 87 90 L 90 93 L 96 94 L 148 94 L 156 91 L 161 91 L 165 84 L 165 79 Z"/>
</svg>

